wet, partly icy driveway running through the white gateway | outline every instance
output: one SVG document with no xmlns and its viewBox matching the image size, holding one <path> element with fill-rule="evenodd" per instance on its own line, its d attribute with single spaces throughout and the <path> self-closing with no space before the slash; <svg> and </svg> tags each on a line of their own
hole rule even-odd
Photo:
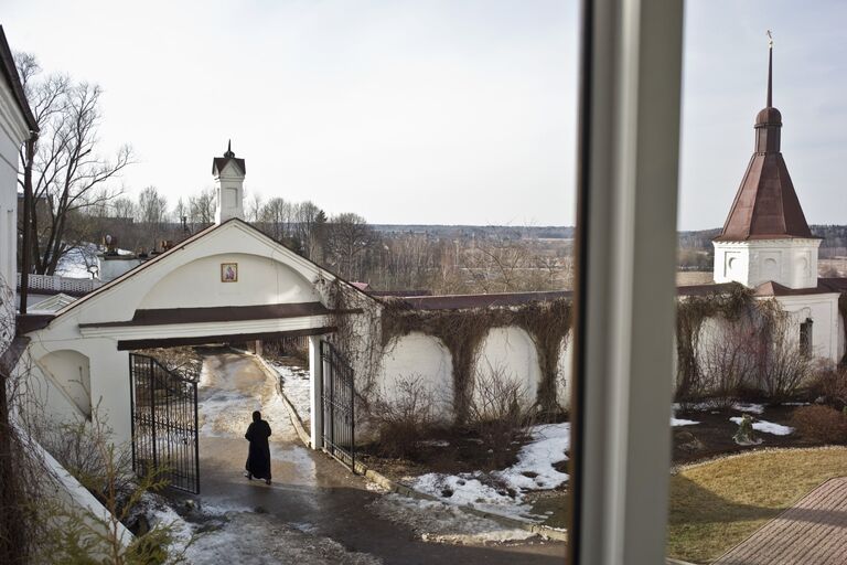
<svg viewBox="0 0 847 565">
<path fill-rule="evenodd" d="M 369 511 L 368 504 L 382 494 L 367 490 L 361 477 L 299 444 L 275 383 L 256 361 L 223 352 L 207 356 L 205 366 L 200 406 L 201 505 L 258 510 L 315 540 L 330 539 L 347 552 L 385 564 L 564 562 L 562 543 L 459 546 L 416 539 L 405 526 Z M 247 455 L 244 431 L 250 412 L 259 407 L 274 430 L 269 487 L 242 476 Z M 233 558 L 235 563 L 237 557 Z"/>
</svg>

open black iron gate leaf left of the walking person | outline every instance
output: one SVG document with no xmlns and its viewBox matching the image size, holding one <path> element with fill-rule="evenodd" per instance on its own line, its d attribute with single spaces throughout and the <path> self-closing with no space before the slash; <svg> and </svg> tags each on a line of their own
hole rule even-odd
<svg viewBox="0 0 847 565">
<path fill-rule="evenodd" d="M 197 382 L 168 371 L 156 359 L 129 354 L 132 469 L 154 469 L 174 489 L 200 493 Z"/>
</svg>

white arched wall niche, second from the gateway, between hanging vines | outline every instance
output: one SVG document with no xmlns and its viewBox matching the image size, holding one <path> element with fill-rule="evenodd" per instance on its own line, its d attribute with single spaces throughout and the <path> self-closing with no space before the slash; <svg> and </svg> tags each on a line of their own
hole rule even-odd
<svg viewBox="0 0 847 565">
<path fill-rule="evenodd" d="M 527 404 L 534 404 L 538 397 L 538 384 L 542 380 L 538 354 L 532 338 L 521 328 L 493 328 L 489 331 L 480 345 L 475 373 L 483 379 L 501 373 L 517 381 L 522 385 Z M 475 385 L 473 395 L 478 397 Z"/>
</svg>

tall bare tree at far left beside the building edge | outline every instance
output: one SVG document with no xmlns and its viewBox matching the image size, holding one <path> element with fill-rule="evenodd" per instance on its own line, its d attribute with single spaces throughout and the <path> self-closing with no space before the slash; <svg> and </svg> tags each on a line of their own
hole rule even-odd
<svg viewBox="0 0 847 565">
<path fill-rule="evenodd" d="M 41 130 L 37 143 L 24 146 L 20 156 L 21 184 L 32 178 L 32 265 L 35 273 L 52 275 L 76 244 L 67 237 L 71 216 L 119 194 L 109 183 L 132 163 L 132 151 L 124 146 L 112 160 L 98 154 L 99 86 L 72 84 L 61 75 L 39 78 L 32 55 L 19 54 L 17 63 Z"/>
</svg>

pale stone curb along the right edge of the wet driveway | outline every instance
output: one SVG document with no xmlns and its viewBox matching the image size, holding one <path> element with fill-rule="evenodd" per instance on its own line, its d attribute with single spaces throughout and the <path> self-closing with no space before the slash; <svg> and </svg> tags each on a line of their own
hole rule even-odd
<svg viewBox="0 0 847 565">
<path fill-rule="evenodd" d="M 266 373 L 268 373 L 269 375 L 277 379 L 277 381 L 279 381 L 279 374 L 274 370 L 274 367 L 271 367 L 268 364 L 268 362 L 265 359 L 261 358 L 261 355 L 256 355 L 255 353 L 250 353 L 250 352 L 247 352 L 247 353 L 253 355 L 259 361 L 259 364 L 261 365 L 262 370 Z M 277 390 L 279 391 L 279 395 L 282 397 L 282 399 L 286 403 L 286 408 L 288 408 L 289 416 L 291 417 L 291 423 L 294 425 L 294 429 L 297 429 L 297 435 L 300 436 L 300 440 L 303 443 L 303 445 L 305 445 L 305 447 L 311 448 L 311 438 L 309 434 L 305 433 L 302 419 L 300 418 L 300 415 L 297 413 L 294 405 L 291 403 L 288 396 L 286 396 L 286 393 L 285 391 L 282 391 L 281 387 L 277 386 Z M 406 484 L 403 484 L 401 482 L 393 481 L 385 475 L 368 468 L 364 463 L 356 462 L 354 467 L 354 471 L 363 476 L 365 479 L 369 480 L 371 482 L 378 484 L 379 487 L 382 487 L 383 489 L 389 492 L 396 492 L 398 494 L 403 494 L 404 497 L 409 497 L 412 499 L 431 500 L 433 502 L 443 502 L 443 500 L 440 500 L 437 497 L 427 494 L 426 492 L 417 491 L 410 487 L 407 487 Z M 502 525 L 515 527 L 517 530 L 524 530 L 533 534 L 540 535 L 542 537 L 547 537 L 549 540 L 556 540 L 560 542 L 568 541 L 567 532 L 562 532 L 561 530 L 556 530 L 550 526 L 523 522 L 521 520 L 515 520 L 514 518 L 503 516 L 500 514 L 494 514 L 492 512 L 485 512 L 484 510 L 480 510 L 474 507 L 469 507 L 467 504 L 457 505 L 457 508 L 461 509 L 464 512 L 468 512 L 469 514 L 474 514 L 480 518 L 486 518 Z"/>
</svg>

